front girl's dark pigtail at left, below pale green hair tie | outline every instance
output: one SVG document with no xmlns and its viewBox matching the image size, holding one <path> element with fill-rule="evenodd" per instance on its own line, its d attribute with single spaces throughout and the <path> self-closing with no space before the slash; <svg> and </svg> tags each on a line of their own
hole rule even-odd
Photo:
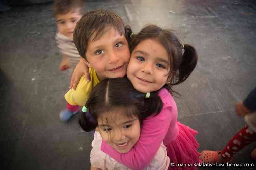
<svg viewBox="0 0 256 170">
<path fill-rule="evenodd" d="M 91 118 L 89 112 L 80 111 L 79 115 L 78 123 L 84 131 L 89 132 L 96 128 L 97 125 Z"/>
</svg>

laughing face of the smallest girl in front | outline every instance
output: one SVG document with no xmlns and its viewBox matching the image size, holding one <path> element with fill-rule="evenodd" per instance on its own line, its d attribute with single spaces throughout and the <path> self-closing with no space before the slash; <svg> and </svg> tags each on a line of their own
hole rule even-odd
<svg viewBox="0 0 256 170">
<path fill-rule="evenodd" d="M 136 117 L 127 117 L 119 112 L 104 113 L 98 118 L 98 127 L 102 139 L 120 153 L 127 153 L 140 137 L 140 121 Z"/>
</svg>

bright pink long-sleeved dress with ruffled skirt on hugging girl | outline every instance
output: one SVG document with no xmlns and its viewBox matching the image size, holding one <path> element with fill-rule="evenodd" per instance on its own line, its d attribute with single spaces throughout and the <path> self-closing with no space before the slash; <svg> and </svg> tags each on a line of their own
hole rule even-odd
<svg viewBox="0 0 256 170">
<path fill-rule="evenodd" d="M 143 121 L 141 135 L 136 145 L 128 152 L 120 154 L 102 141 L 101 151 L 133 170 L 145 168 L 156 154 L 162 141 L 167 147 L 170 163 L 200 163 L 195 139 L 197 131 L 177 121 L 177 106 L 174 98 L 164 88 L 159 92 L 163 108 L 157 116 Z M 170 169 L 197 169 L 195 166 L 169 166 Z"/>
</svg>

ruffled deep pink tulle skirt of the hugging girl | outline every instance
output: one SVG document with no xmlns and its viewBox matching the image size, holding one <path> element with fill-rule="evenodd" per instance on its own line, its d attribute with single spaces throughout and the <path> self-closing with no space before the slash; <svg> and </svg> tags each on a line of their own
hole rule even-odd
<svg viewBox="0 0 256 170">
<path fill-rule="evenodd" d="M 199 143 L 195 139 L 198 132 L 179 121 L 177 121 L 177 125 L 179 126 L 179 135 L 166 145 L 167 155 L 170 158 L 168 170 L 196 170 L 197 166 L 194 165 L 201 163 L 200 153 L 197 152 Z M 171 163 L 174 163 L 174 166 L 171 166 Z"/>
</svg>

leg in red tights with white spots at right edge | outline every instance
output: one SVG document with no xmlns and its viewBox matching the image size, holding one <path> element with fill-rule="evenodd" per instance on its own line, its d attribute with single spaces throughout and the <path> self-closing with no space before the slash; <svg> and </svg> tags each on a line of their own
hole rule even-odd
<svg viewBox="0 0 256 170">
<path fill-rule="evenodd" d="M 256 133 L 248 126 L 245 126 L 228 142 L 221 151 L 221 156 L 222 158 L 231 158 L 238 151 L 254 141 L 256 141 Z"/>
</svg>

